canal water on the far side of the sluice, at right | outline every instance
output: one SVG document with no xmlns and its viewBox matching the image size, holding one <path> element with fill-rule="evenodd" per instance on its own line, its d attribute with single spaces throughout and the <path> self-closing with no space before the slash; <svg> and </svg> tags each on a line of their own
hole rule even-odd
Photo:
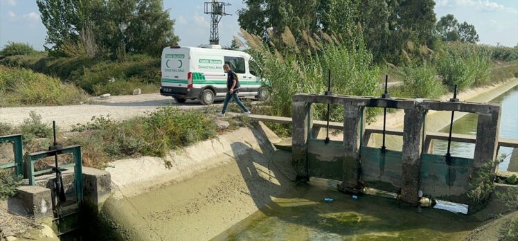
<svg viewBox="0 0 518 241">
<path fill-rule="evenodd" d="M 501 104 L 501 118 L 499 137 L 506 139 L 518 139 L 518 86 L 510 89 L 490 102 Z M 456 120 L 453 125 L 453 133 L 476 135 L 478 115 L 467 114 Z M 449 126 L 440 132 L 449 132 Z M 452 142 L 450 152 L 455 157 L 473 158 L 475 145 L 471 143 Z M 499 165 L 499 170 L 508 170 L 513 148 L 500 148 L 499 154 L 506 154 L 506 159 Z M 434 141 L 434 154 L 445 154 L 447 141 Z M 518 153 L 516 154 L 518 155 Z"/>
</svg>

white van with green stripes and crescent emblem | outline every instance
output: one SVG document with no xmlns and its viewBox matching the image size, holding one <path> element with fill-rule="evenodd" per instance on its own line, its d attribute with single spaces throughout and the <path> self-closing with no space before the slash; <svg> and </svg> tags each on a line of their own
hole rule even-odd
<svg viewBox="0 0 518 241">
<path fill-rule="evenodd" d="M 226 73 L 223 64 L 229 64 L 241 84 L 239 96 L 265 99 L 267 90 L 257 76 L 258 66 L 251 56 L 242 51 L 220 49 L 208 45 L 204 48 L 170 46 L 163 48 L 161 64 L 162 96 L 172 96 L 177 102 L 199 99 L 211 105 L 215 97 L 226 95 Z"/>
</svg>

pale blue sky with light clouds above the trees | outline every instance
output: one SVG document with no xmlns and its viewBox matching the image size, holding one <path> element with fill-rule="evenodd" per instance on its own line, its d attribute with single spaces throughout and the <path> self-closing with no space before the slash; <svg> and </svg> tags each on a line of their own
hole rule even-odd
<svg viewBox="0 0 518 241">
<path fill-rule="evenodd" d="M 208 1 L 208 0 L 206 0 Z M 459 22 L 473 24 L 480 44 L 516 46 L 518 44 L 518 0 L 435 0 L 437 19 L 453 14 Z M 239 32 L 237 11 L 242 0 L 231 3 L 220 22 L 220 44 L 229 46 Z M 163 0 L 164 8 L 175 19 L 180 45 L 208 44 L 211 17 L 204 14 L 204 1 Z M 0 0 L 0 48 L 8 41 L 27 42 L 42 50 L 46 29 L 39 18 L 35 0 Z"/>
</svg>

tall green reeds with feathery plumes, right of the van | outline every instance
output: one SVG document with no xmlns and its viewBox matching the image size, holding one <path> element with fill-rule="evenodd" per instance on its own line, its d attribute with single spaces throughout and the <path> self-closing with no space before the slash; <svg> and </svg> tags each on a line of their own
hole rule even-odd
<svg viewBox="0 0 518 241">
<path fill-rule="evenodd" d="M 327 90 L 329 70 L 335 94 L 372 96 L 377 93 L 378 69 L 361 41 L 349 46 L 341 42 L 339 36 L 305 36 L 306 47 L 301 44 L 299 48 L 287 29 L 282 39 L 271 41 L 286 45 L 276 48 L 274 44 L 264 44 L 258 36 L 243 35 L 251 47 L 249 53 L 262 67 L 262 76 L 269 82 L 269 100 L 265 105 L 271 106 L 270 115 L 292 116 L 294 94 Z M 326 105 L 314 105 L 316 119 L 323 119 L 325 113 Z M 330 118 L 343 120 L 343 107 L 333 106 Z"/>
</svg>

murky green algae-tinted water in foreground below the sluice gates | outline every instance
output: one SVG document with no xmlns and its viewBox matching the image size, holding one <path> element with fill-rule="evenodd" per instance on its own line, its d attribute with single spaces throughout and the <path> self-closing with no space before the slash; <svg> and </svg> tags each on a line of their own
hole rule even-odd
<svg viewBox="0 0 518 241">
<path fill-rule="evenodd" d="M 353 199 L 323 182 L 298 186 L 293 198 L 275 199 L 214 240 L 461 240 L 479 224 L 466 215 L 418 210 L 395 199 Z"/>
</svg>

